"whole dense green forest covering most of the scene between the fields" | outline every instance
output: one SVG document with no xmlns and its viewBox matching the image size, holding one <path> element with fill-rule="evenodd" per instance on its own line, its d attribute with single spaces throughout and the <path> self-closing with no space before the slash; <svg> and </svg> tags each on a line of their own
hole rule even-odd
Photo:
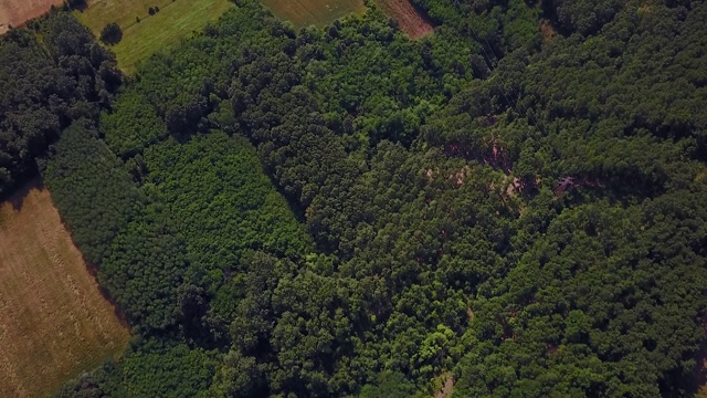
<svg viewBox="0 0 707 398">
<path fill-rule="evenodd" d="M 413 2 L 238 0 L 129 77 L 61 12 L 3 38 L 0 189 L 133 327 L 59 397 L 696 394 L 707 3 Z"/>
</svg>

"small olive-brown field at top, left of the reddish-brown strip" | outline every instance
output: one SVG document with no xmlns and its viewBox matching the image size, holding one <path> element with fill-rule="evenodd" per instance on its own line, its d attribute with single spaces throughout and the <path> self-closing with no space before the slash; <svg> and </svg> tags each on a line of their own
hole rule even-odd
<svg viewBox="0 0 707 398">
<path fill-rule="evenodd" d="M 363 12 L 363 0 L 261 0 L 275 17 L 292 22 L 296 29 L 325 25 L 350 13 Z"/>
</svg>

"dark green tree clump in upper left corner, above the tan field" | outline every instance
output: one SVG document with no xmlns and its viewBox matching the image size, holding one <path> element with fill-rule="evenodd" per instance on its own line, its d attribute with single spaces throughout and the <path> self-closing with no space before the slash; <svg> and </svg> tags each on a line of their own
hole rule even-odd
<svg viewBox="0 0 707 398">
<path fill-rule="evenodd" d="M 0 41 L 0 196 L 36 172 L 34 159 L 72 121 L 97 118 L 120 84 L 112 54 L 70 14 Z"/>
</svg>

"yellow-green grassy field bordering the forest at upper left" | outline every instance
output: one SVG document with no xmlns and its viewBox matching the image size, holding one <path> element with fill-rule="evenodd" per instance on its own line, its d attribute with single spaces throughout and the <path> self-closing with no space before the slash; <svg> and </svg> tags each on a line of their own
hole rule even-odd
<svg viewBox="0 0 707 398">
<path fill-rule="evenodd" d="M 155 6 L 159 12 L 150 15 L 148 9 Z M 75 13 L 96 35 L 107 23 L 118 22 L 123 40 L 110 50 L 118 66 L 133 73 L 140 61 L 200 31 L 232 7 L 229 0 L 99 0 Z M 140 22 L 136 22 L 136 17 Z"/>
</svg>

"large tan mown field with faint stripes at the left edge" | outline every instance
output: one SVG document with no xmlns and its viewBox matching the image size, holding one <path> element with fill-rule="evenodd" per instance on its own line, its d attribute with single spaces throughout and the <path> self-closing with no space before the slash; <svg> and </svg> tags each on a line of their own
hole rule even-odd
<svg viewBox="0 0 707 398">
<path fill-rule="evenodd" d="M 43 397 L 129 338 L 39 181 L 0 203 L 0 397 Z"/>
</svg>

